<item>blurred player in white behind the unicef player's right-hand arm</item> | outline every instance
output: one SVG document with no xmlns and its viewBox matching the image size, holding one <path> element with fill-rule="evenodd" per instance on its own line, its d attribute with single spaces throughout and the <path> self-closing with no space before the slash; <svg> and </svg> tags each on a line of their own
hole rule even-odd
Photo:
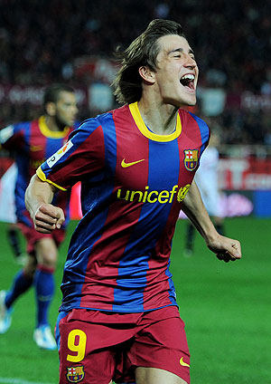
<svg viewBox="0 0 271 384">
<path fill-rule="evenodd" d="M 196 172 L 195 180 L 201 191 L 201 198 L 210 218 L 220 235 L 224 235 L 223 216 L 220 206 L 219 160 L 220 134 L 212 130 L 210 142 L 201 156 L 201 165 Z M 196 228 L 189 221 L 186 229 L 185 247 L 183 254 L 190 257 L 193 254 L 193 244 Z"/>
</svg>

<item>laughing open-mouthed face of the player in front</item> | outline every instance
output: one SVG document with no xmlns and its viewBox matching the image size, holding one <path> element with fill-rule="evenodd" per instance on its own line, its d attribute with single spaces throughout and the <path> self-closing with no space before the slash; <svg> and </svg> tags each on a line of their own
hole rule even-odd
<svg viewBox="0 0 271 384">
<path fill-rule="evenodd" d="M 159 96 L 176 107 L 195 105 L 199 68 L 187 40 L 177 34 L 160 37 L 154 72 Z"/>
</svg>

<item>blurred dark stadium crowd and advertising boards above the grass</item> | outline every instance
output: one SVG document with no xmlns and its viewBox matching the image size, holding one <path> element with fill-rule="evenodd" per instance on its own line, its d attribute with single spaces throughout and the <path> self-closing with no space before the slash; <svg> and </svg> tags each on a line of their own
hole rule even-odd
<svg viewBox="0 0 271 384">
<path fill-rule="evenodd" d="M 270 11 L 270 0 L 1 0 L 0 127 L 38 116 L 51 82 L 75 87 L 80 120 L 116 107 L 114 49 L 153 18 L 172 18 L 200 66 L 193 111 L 221 133 L 220 186 L 238 192 L 228 214 L 249 212 L 241 194 L 271 216 Z"/>
</svg>

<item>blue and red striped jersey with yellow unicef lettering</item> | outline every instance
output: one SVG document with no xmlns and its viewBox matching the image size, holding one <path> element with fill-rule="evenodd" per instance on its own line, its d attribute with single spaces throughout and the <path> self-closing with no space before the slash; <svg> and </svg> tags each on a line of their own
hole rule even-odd
<svg viewBox="0 0 271 384">
<path fill-rule="evenodd" d="M 83 217 L 70 240 L 61 311 L 177 305 L 173 232 L 209 136 L 185 110 L 172 134 L 154 134 L 135 102 L 86 120 L 42 164 L 38 176 L 54 186 L 81 181 Z"/>
</svg>

